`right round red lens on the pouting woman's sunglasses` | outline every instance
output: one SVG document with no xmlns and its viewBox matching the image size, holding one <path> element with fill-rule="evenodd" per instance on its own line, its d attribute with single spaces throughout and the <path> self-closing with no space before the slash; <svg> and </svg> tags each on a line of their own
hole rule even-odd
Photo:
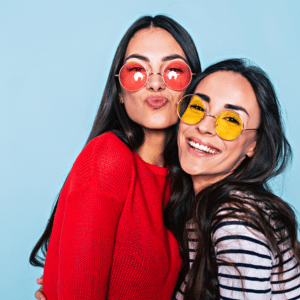
<svg viewBox="0 0 300 300">
<path fill-rule="evenodd" d="M 171 62 L 164 70 L 164 81 L 172 90 L 183 90 L 190 84 L 191 79 L 191 70 L 189 66 L 182 61 Z"/>
</svg>

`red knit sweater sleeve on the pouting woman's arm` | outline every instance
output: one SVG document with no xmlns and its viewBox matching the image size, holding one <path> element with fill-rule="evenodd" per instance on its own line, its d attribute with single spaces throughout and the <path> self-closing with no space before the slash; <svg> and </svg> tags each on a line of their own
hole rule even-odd
<svg viewBox="0 0 300 300">
<path fill-rule="evenodd" d="M 131 159 L 132 152 L 107 133 L 75 161 L 59 198 L 46 257 L 47 300 L 106 299 Z"/>
</svg>

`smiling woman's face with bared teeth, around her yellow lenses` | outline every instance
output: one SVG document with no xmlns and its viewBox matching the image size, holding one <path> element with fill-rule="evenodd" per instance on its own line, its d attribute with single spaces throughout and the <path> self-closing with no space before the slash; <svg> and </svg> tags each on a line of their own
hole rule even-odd
<svg viewBox="0 0 300 300">
<path fill-rule="evenodd" d="M 260 112 L 255 93 L 240 74 L 218 71 L 205 77 L 194 94 L 203 95 L 205 110 L 217 116 L 233 110 L 241 116 L 244 127 L 258 128 Z M 182 169 L 192 175 L 196 192 L 229 175 L 246 157 L 254 154 L 256 131 L 243 131 L 235 140 L 221 139 L 215 131 L 215 118 L 205 115 L 195 125 L 180 121 L 179 160 Z"/>
</svg>

